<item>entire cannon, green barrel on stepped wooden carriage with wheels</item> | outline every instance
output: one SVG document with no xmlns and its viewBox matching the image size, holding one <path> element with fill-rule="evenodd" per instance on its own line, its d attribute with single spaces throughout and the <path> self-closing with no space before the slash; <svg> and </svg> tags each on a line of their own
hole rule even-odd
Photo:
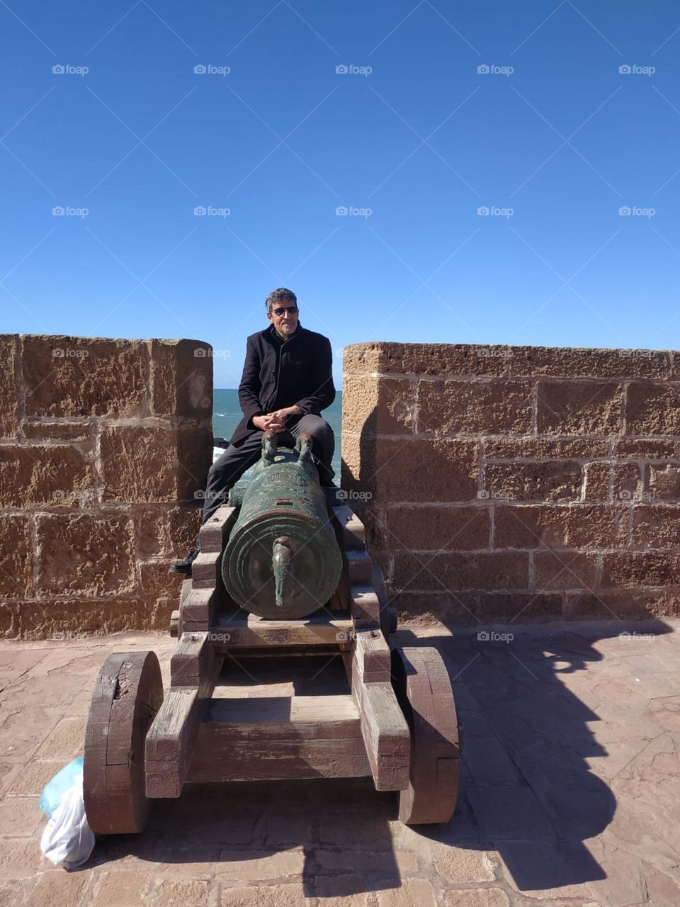
<svg viewBox="0 0 680 907">
<path fill-rule="evenodd" d="M 436 649 L 391 649 L 395 614 L 364 525 L 337 489 L 320 488 L 310 444 L 307 435 L 296 452 L 277 451 L 266 434 L 244 499 L 232 492 L 202 526 L 171 618 L 167 695 L 153 651 L 105 660 L 84 750 L 95 833 L 143 831 L 151 800 L 191 782 L 371 776 L 377 790 L 399 792 L 402 822 L 451 818 L 460 746 L 446 668 Z M 310 687 L 307 666 L 319 659 Z M 340 659 L 338 686 L 325 665 Z M 269 695 L 282 663 L 292 695 Z M 252 684 L 220 697 L 240 668 Z"/>
</svg>

